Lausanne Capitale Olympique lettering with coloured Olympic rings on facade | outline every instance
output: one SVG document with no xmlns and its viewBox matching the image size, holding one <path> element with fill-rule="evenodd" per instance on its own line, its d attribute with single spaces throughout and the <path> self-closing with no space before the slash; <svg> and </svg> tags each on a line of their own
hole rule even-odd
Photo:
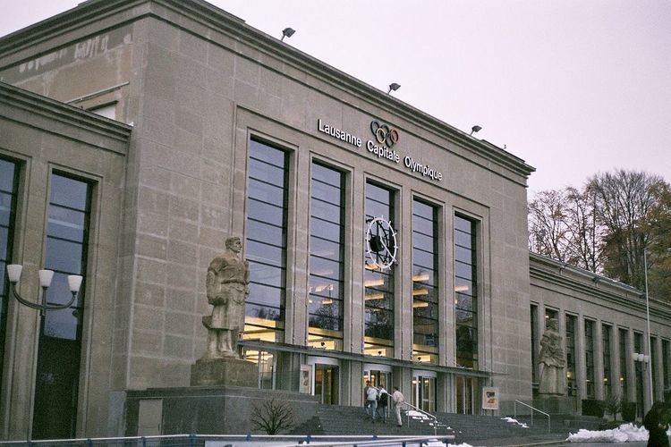
<svg viewBox="0 0 671 447">
<path fill-rule="evenodd" d="M 361 138 L 355 137 L 352 133 L 338 129 L 335 126 L 325 124 L 321 121 L 321 118 L 317 120 L 317 129 L 335 139 L 340 139 L 352 146 L 361 148 Z M 400 132 L 385 122 L 378 122 L 378 120 L 370 122 L 370 131 L 375 139 L 369 139 L 366 142 L 366 148 L 369 153 L 376 156 L 378 160 L 385 158 L 390 162 L 400 164 L 401 156 L 392 148 L 401 139 Z M 422 177 L 429 177 L 429 179 L 434 181 L 443 180 L 443 173 L 437 171 L 429 164 L 416 161 L 412 156 L 404 156 L 402 165 L 404 168 L 412 171 L 412 173 L 420 173 Z"/>
</svg>

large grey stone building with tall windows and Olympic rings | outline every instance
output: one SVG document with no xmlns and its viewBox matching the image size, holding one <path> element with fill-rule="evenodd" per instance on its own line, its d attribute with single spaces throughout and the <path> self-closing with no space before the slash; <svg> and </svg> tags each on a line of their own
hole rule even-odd
<svg viewBox="0 0 671 447">
<path fill-rule="evenodd" d="M 188 386 L 229 235 L 259 388 L 360 405 L 371 380 L 480 413 L 493 386 L 505 411 L 556 316 L 576 409 L 650 404 L 641 293 L 530 258 L 533 168 L 487 141 L 200 0 L 89 0 L 0 39 L 0 81 L 0 266 L 32 300 L 43 266 L 50 302 L 85 278 L 44 319 L 4 279 L 4 439 L 123 434 L 127 392 Z M 667 307 L 650 320 L 661 398 Z"/>
</svg>

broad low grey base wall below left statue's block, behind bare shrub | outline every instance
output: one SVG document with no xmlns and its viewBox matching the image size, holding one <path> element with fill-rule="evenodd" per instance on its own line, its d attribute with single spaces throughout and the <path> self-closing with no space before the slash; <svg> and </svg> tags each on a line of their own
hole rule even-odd
<svg viewBox="0 0 671 447">
<path fill-rule="evenodd" d="M 265 434 L 251 425 L 251 410 L 271 399 L 291 406 L 296 425 L 316 415 L 319 401 L 310 394 L 237 386 L 129 391 L 125 435 Z"/>
</svg>

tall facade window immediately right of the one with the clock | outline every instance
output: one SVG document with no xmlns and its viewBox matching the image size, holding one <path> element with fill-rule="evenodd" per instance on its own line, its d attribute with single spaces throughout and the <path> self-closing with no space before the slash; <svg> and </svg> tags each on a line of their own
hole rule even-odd
<svg viewBox="0 0 671 447">
<path fill-rule="evenodd" d="M 438 362 L 437 207 L 412 200 L 412 356 Z"/>
</svg>

